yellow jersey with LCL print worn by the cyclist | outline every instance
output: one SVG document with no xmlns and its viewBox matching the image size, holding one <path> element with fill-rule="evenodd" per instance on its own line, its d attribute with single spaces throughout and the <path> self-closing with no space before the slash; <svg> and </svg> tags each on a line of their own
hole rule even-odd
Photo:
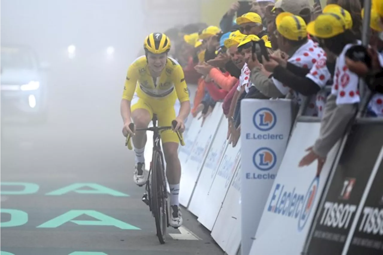
<svg viewBox="0 0 383 255">
<path fill-rule="evenodd" d="M 134 60 L 129 66 L 124 86 L 123 99 L 132 101 L 134 94 L 144 100 L 158 100 L 174 104 L 189 100 L 189 93 L 182 67 L 173 58 L 167 57 L 164 70 L 153 78 L 147 65 L 146 56 Z"/>
</svg>

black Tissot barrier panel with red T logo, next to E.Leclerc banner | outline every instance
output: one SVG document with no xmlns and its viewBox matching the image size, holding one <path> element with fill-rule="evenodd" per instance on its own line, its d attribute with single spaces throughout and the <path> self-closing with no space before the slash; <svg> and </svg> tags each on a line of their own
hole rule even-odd
<svg viewBox="0 0 383 255">
<path fill-rule="evenodd" d="M 381 125 L 356 125 L 349 135 L 334 176 L 330 180 L 330 187 L 327 194 L 324 194 L 325 201 L 313 224 L 312 237 L 308 239 L 309 255 L 342 253 L 383 144 L 383 136 L 380 135 L 382 128 Z"/>
</svg>

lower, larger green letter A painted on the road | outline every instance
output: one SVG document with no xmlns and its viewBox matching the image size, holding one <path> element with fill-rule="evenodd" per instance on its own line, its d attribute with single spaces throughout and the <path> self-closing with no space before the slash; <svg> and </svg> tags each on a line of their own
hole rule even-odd
<svg viewBox="0 0 383 255">
<path fill-rule="evenodd" d="M 98 221 L 73 220 L 84 214 L 90 217 L 93 217 L 95 219 L 98 219 Z M 115 227 L 118 227 L 119 229 L 141 230 L 138 227 L 132 226 L 128 223 L 124 223 L 123 221 L 120 221 L 118 219 L 115 219 L 113 217 L 110 217 L 108 215 L 105 215 L 103 213 L 100 213 L 98 211 L 93 211 L 93 210 L 70 210 L 67 213 L 57 216 L 56 218 L 51 219 L 50 221 L 47 221 L 46 223 L 43 223 L 38 227 L 56 228 L 61 226 L 64 223 L 67 223 L 68 221 L 76 223 L 77 225 L 82 225 L 82 226 L 115 226 Z"/>
</svg>

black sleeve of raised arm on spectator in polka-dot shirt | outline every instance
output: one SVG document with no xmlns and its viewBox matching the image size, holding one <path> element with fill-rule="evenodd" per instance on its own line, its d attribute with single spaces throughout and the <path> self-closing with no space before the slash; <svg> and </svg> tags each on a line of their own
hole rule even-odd
<svg viewBox="0 0 383 255">
<path fill-rule="evenodd" d="M 273 77 L 278 81 L 283 81 L 284 85 L 304 96 L 311 96 L 321 90 L 321 87 L 314 81 L 306 77 L 297 76 L 280 65 L 274 69 Z"/>
</svg>

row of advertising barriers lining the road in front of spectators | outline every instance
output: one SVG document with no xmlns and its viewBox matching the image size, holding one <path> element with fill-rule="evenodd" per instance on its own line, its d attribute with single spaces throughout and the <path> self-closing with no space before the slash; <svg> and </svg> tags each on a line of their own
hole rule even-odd
<svg viewBox="0 0 383 255">
<path fill-rule="evenodd" d="M 383 254 L 382 123 L 356 125 L 317 177 L 317 161 L 298 164 L 321 123 L 293 120 L 291 107 L 287 99 L 242 100 L 234 148 L 221 103 L 204 122 L 191 118 L 178 152 L 181 205 L 228 255 Z"/>
</svg>

